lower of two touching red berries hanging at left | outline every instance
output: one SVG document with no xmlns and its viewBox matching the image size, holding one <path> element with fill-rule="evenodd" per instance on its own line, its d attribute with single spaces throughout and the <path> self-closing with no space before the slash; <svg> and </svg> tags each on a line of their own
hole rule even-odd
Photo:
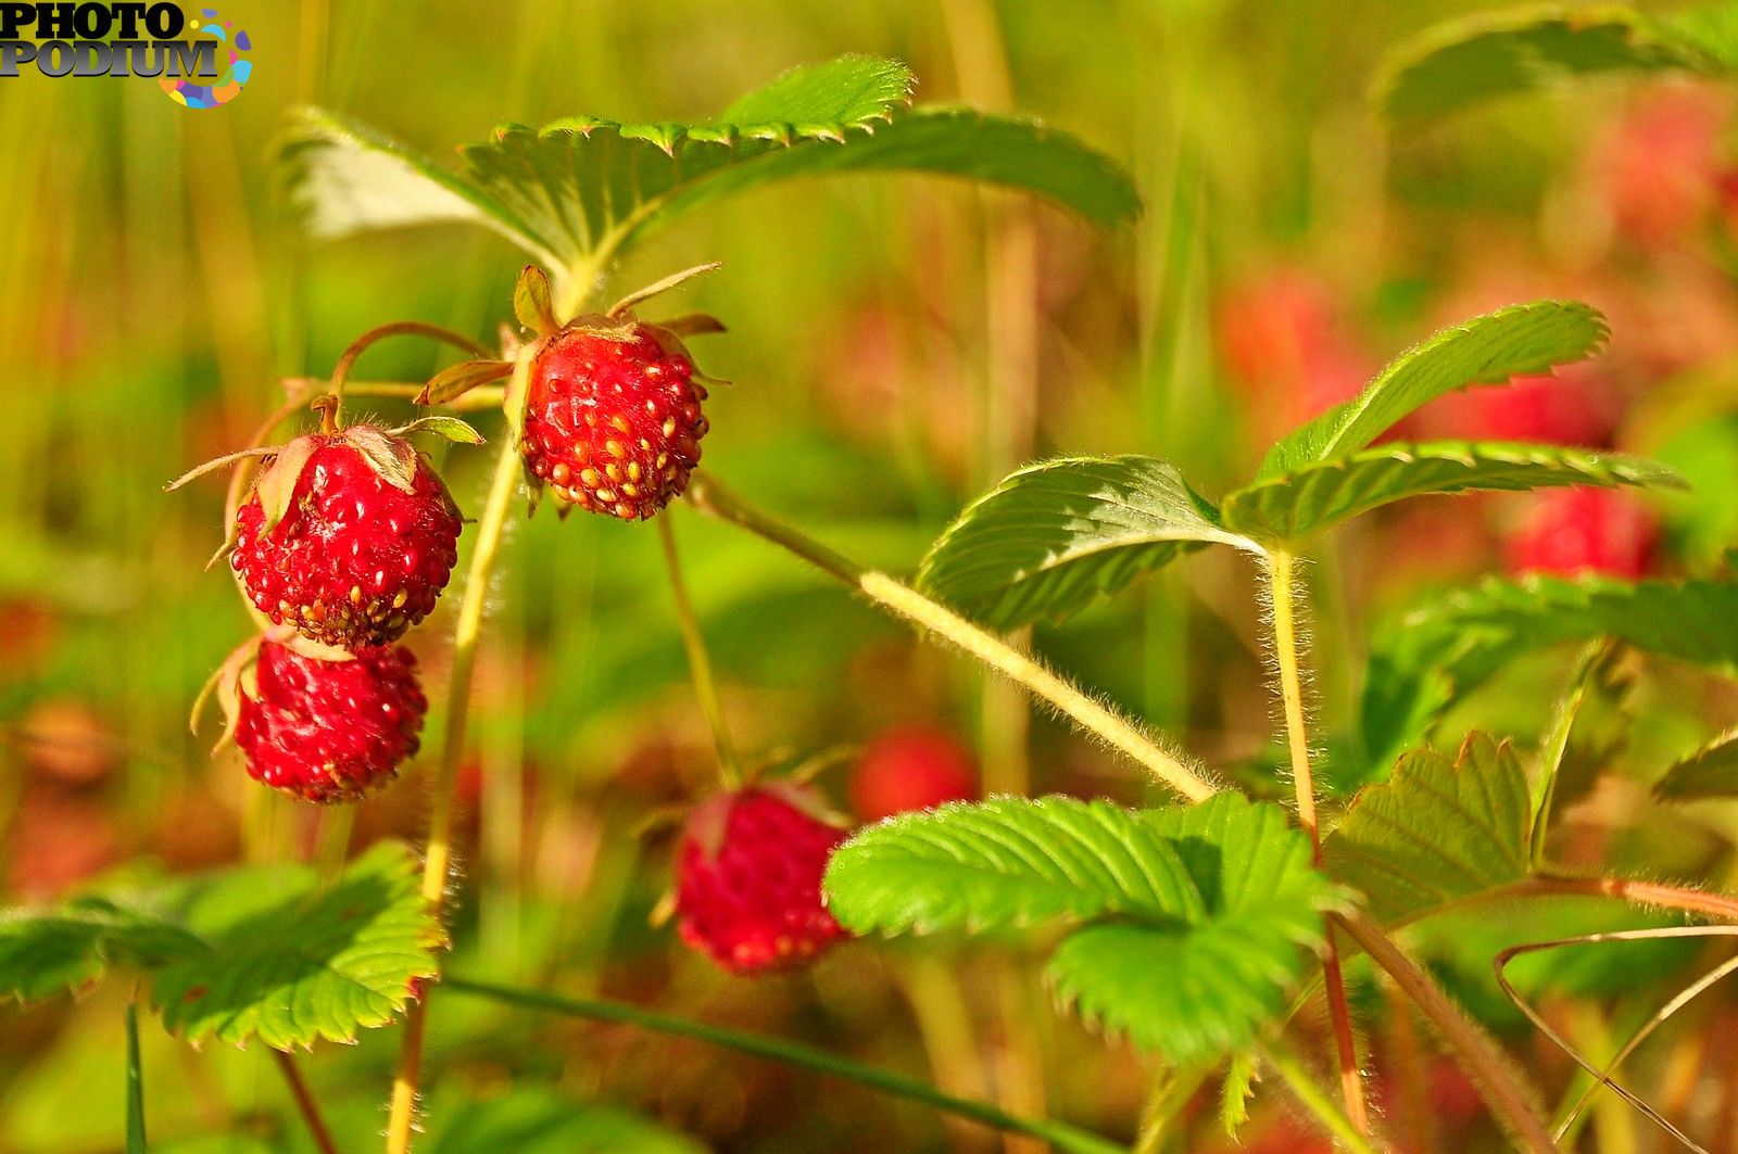
<svg viewBox="0 0 1738 1154">
<path fill-rule="evenodd" d="M 247 772 L 308 801 L 353 801 L 396 777 L 429 707 L 403 647 L 320 660 L 261 641 L 252 681 L 235 726 Z"/>
</svg>

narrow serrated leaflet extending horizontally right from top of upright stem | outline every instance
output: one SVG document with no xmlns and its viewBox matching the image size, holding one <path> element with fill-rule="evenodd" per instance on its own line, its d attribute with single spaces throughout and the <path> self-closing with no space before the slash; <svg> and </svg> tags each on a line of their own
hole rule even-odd
<svg viewBox="0 0 1738 1154">
<path fill-rule="evenodd" d="M 1641 457 L 1556 445 L 1378 445 L 1239 488 L 1220 502 L 1220 520 L 1239 534 L 1295 539 L 1406 497 L 1562 485 L 1682 487 L 1682 480 Z"/>
</svg>

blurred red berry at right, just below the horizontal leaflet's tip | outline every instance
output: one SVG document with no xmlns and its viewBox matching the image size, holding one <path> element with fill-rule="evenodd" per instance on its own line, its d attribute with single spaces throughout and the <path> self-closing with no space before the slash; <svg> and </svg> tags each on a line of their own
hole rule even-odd
<svg viewBox="0 0 1738 1154">
<path fill-rule="evenodd" d="M 1509 539 L 1509 570 L 1634 580 L 1648 572 L 1658 539 L 1660 523 L 1635 497 L 1615 488 L 1561 488 L 1540 494 Z"/>
</svg>

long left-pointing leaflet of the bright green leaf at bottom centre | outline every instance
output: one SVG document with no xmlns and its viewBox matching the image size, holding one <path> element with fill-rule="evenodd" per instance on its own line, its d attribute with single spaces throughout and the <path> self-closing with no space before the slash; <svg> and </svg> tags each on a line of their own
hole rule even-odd
<svg viewBox="0 0 1738 1154">
<path fill-rule="evenodd" d="M 1151 822 L 1072 798 L 951 803 L 871 826 L 834 852 L 826 888 L 833 916 L 859 933 L 1204 912 Z"/>
</svg>

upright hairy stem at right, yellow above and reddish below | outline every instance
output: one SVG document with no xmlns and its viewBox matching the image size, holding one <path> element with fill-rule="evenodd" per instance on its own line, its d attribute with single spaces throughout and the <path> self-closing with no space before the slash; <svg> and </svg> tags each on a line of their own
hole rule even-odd
<svg viewBox="0 0 1738 1154">
<path fill-rule="evenodd" d="M 1297 622 L 1295 558 L 1284 549 L 1269 553 L 1267 575 L 1272 584 L 1274 662 L 1279 667 L 1279 699 L 1284 704 L 1286 742 L 1291 749 L 1291 786 L 1298 799 L 1298 822 L 1309 832 L 1310 853 L 1321 867 L 1321 829 L 1316 822 L 1316 777 L 1309 763 L 1309 730 L 1304 720 L 1304 671 Z M 1333 921 L 1324 926 L 1321 954 L 1323 989 L 1328 994 L 1328 1015 L 1333 1020 L 1333 1048 L 1340 1062 L 1340 1093 L 1345 1112 L 1359 1133 L 1370 1133 L 1370 1114 L 1364 1107 L 1364 1078 L 1357 1069 L 1357 1041 L 1352 1038 L 1352 1011 L 1345 1001 L 1345 977 L 1340 973 L 1340 947 L 1335 942 Z"/>
</svg>

